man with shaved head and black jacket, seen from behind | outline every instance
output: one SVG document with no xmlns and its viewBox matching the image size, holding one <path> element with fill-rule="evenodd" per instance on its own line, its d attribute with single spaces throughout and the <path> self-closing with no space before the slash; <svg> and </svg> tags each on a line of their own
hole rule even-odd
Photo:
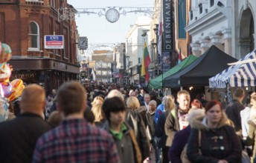
<svg viewBox="0 0 256 163">
<path fill-rule="evenodd" d="M 30 84 L 22 92 L 21 114 L 0 123 L 0 162 L 31 162 L 36 140 L 50 130 L 42 119 L 45 90 Z"/>
</svg>

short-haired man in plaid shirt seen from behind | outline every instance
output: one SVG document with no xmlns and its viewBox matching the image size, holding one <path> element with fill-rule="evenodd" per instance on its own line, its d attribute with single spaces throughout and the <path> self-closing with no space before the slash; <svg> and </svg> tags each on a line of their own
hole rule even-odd
<svg viewBox="0 0 256 163">
<path fill-rule="evenodd" d="M 120 162 L 112 136 L 83 119 L 86 90 L 66 82 L 57 92 L 57 108 L 65 120 L 41 136 L 33 153 L 36 162 Z"/>
</svg>

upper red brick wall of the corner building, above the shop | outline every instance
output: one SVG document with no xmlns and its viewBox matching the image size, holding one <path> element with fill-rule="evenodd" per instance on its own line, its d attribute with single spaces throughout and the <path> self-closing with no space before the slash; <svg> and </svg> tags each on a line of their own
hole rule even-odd
<svg viewBox="0 0 256 163">
<path fill-rule="evenodd" d="M 11 0 L 7 2 L 15 2 Z M 3 1 L 0 2 L 0 4 Z M 49 1 L 50 3 L 51 1 Z M 66 3 L 66 1 L 64 1 Z M 33 52 L 33 56 L 53 57 L 63 61 L 75 63 L 76 49 L 74 48 L 75 37 L 71 31 L 75 32 L 76 26 L 73 21 L 58 21 L 57 9 L 60 8 L 60 1 L 56 1 L 56 10 L 53 10 L 48 4 L 48 0 L 43 3 L 26 2 L 19 0 L 20 5 L 1 4 L 0 5 L 0 41 L 10 45 L 13 50 L 13 56 L 29 56 L 28 53 L 28 24 L 31 21 L 36 21 L 39 25 L 39 50 L 41 53 Z M 67 4 L 63 4 L 67 6 Z M 74 29 L 72 29 L 74 28 Z M 45 50 L 44 36 L 65 34 L 65 54 L 64 50 Z M 50 53 L 51 55 L 49 55 Z M 60 56 L 55 55 L 58 53 Z M 64 56 L 66 59 L 64 59 Z"/>
</svg>

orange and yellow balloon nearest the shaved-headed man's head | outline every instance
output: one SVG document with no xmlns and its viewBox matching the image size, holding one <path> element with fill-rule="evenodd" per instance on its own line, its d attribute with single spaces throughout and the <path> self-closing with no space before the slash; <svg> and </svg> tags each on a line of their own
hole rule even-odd
<svg viewBox="0 0 256 163">
<path fill-rule="evenodd" d="M 10 84 L 12 85 L 13 89 L 7 99 L 12 102 L 14 99 L 22 95 L 25 85 L 23 84 L 22 79 L 14 79 L 12 82 L 10 82 Z"/>
</svg>

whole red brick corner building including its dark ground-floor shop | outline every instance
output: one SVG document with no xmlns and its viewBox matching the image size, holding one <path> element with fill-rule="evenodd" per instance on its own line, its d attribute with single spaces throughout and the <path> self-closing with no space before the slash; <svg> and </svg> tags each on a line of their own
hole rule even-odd
<svg viewBox="0 0 256 163">
<path fill-rule="evenodd" d="M 41 84 L 50 93 L 78 79 L 75 12 L 67 0 L 1 0 L 0 41 L 13 52 L 11 80 Z M 45 49 L 45 35 L 63 35 L 64 49 Z"/>
</svg>

